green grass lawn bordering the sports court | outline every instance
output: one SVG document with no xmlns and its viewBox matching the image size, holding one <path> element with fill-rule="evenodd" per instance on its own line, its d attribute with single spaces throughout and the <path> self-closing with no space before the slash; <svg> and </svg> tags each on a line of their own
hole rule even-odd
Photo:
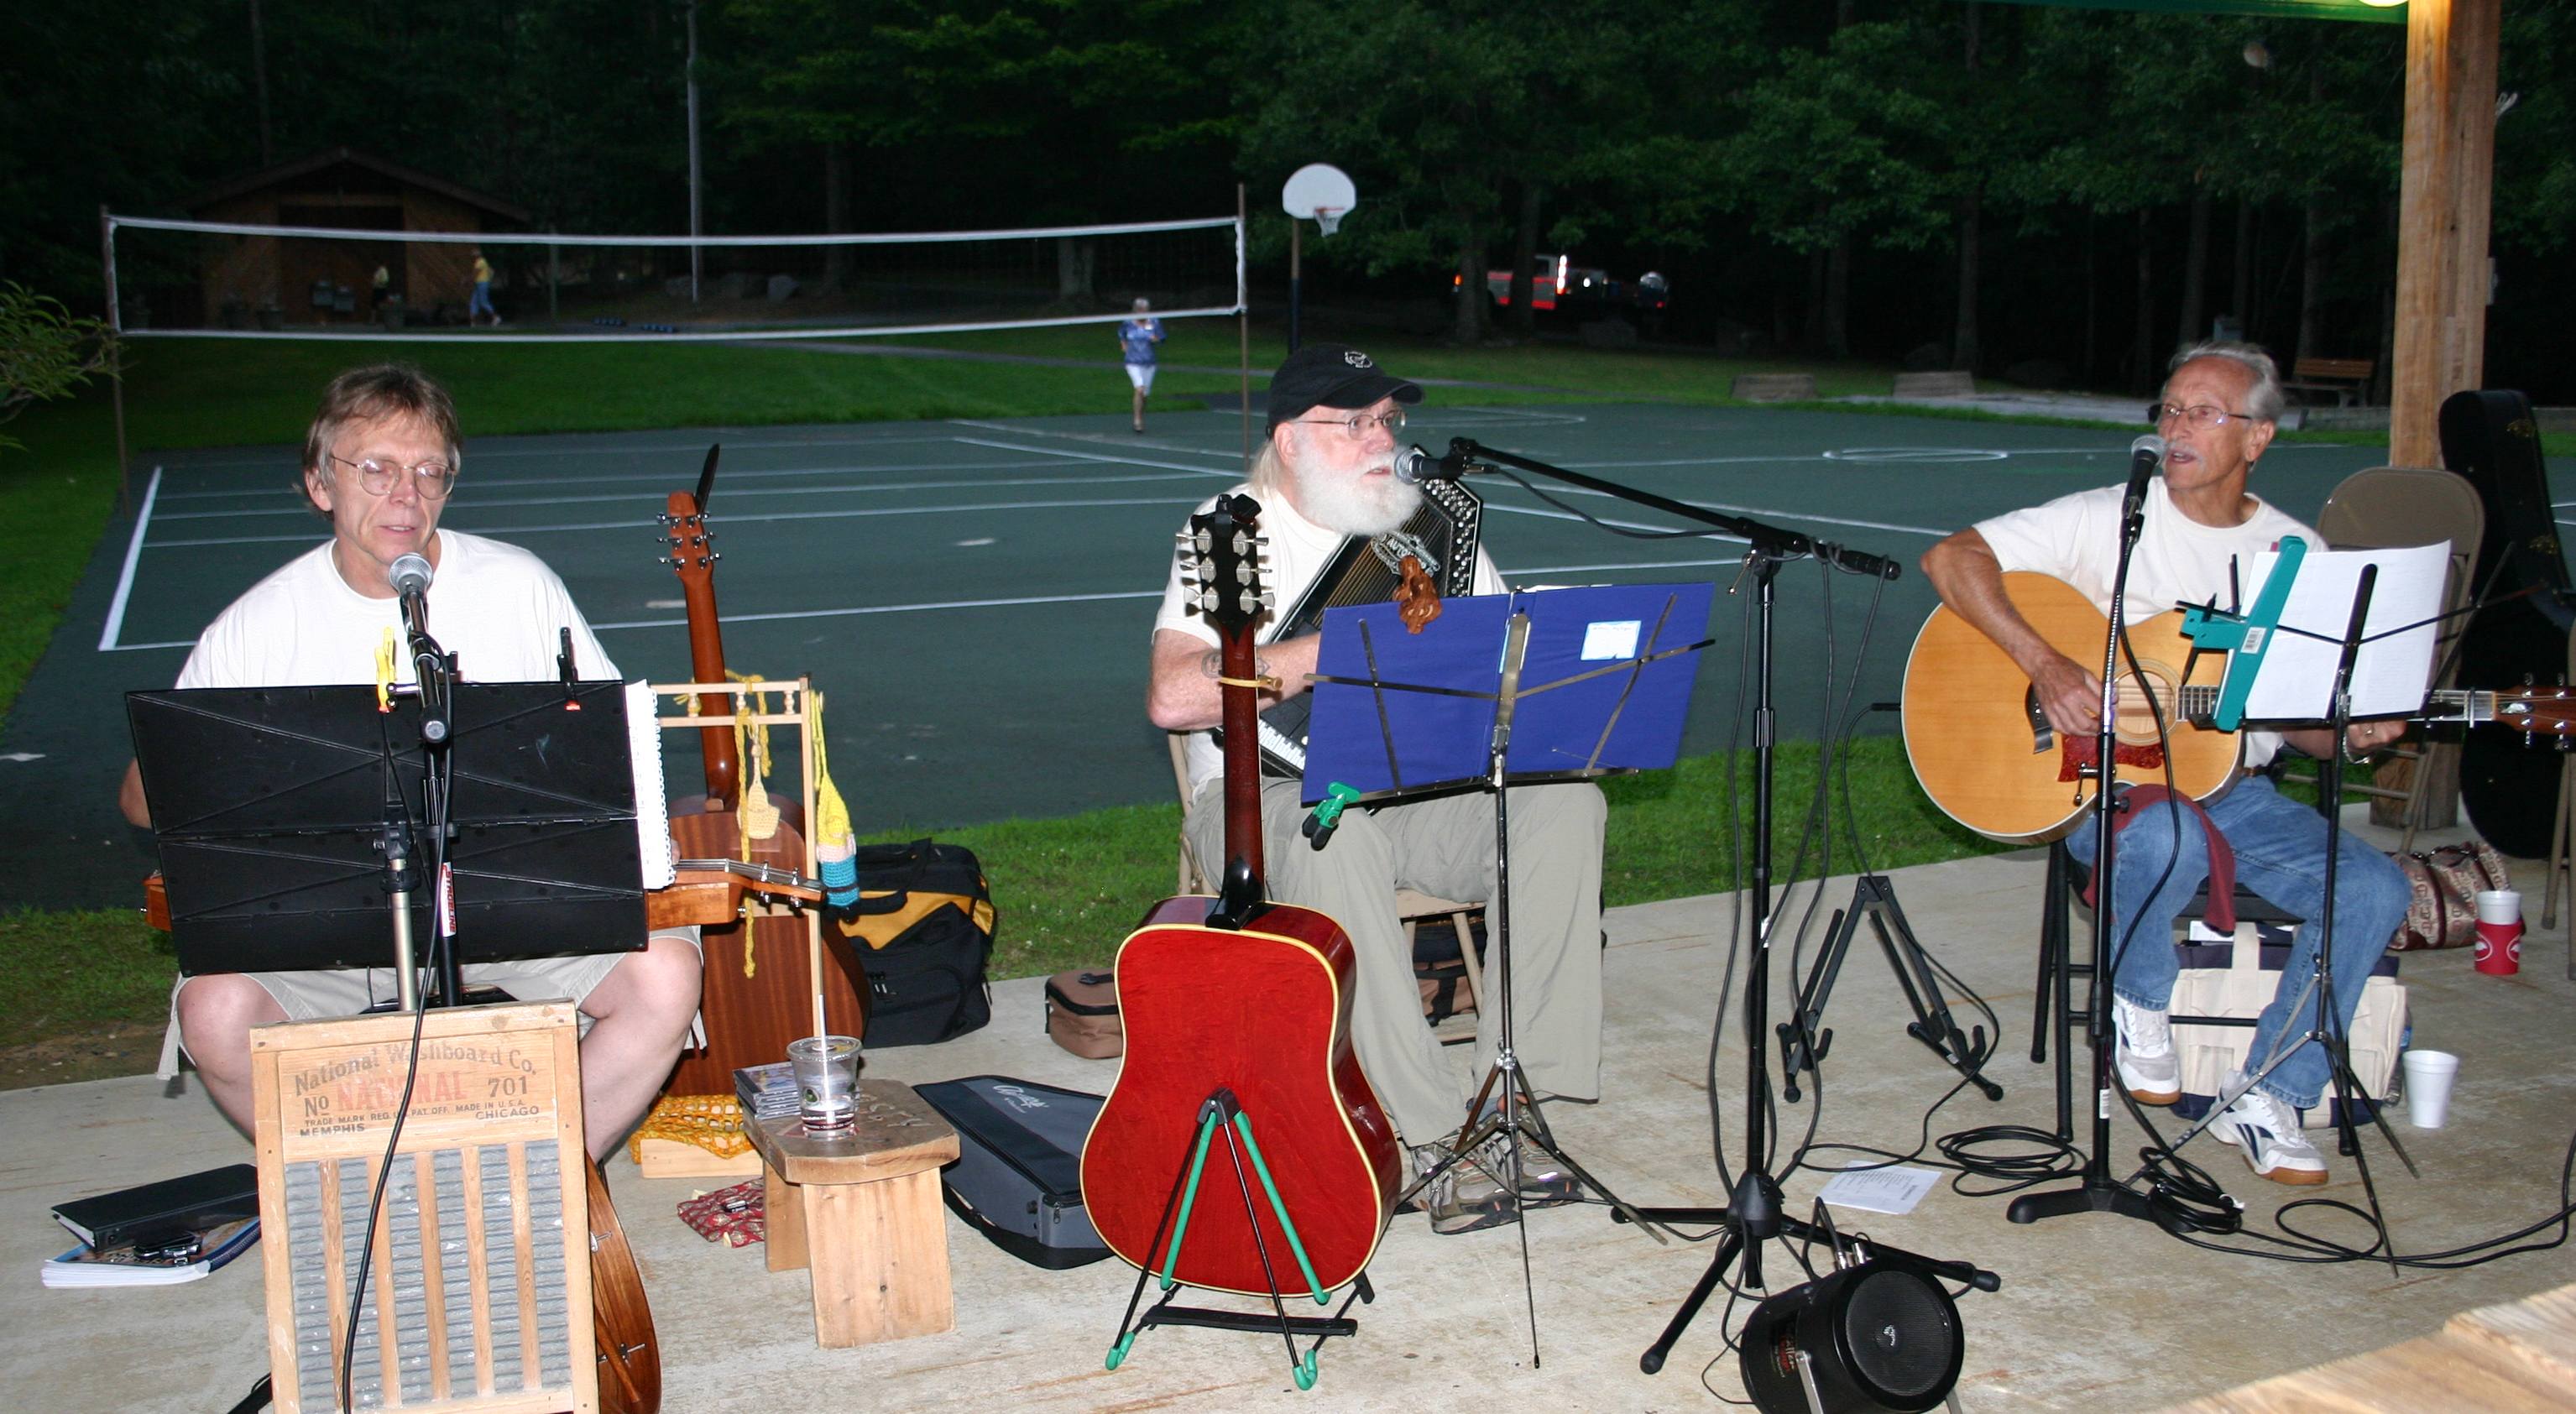
<svg viewBox="0 0 2576 1414">
<path fill-rule="evenodd" d="M 1028 417 L 1118 412 L 1108 327 L 951 335 L 912 340 L 963 353 L 1082 358 L 1090 366 L 1015 361 L 845 355 L 793 348 L 708 345 L 528 345 L 507 335 L 404 345 L 144 340 L 126 376 L 134 464 L 152 448 L 294 443 L 322 384 L 366 358 L 410 358 L 448 384 L 469 435 L 634 430 L 680 425 L 868 422 L 920 417 Z M 1432 402 L 1680 399 L 1726 404 L 1747 371 L 1811 371 L 1826 397 L 1888 391 L 1893 368 L 1868 363 L 1736 361 L 1680 350 L 1592 350 L 1564 343 L 1450 348 L 1370 335 L 1368 345 L 1409 376 L 1499 384 L 1430 389 Z M 1252 366 L 1285 353 L 1255 330 Z M 1170 366 L 1236 366 L 1236 327 L 1224 319 L 1172 325 L 1157 397 L 1231 394 L 1234 373 Z M 1260 373 L 1257 373 L 1260 376 Z M 1528 391 L 1551 389 L 1551 391 Z M 1837 404 L 1852 412 L 1852 404 Z M 1919 410 L 1904 410 L 1919 415 Z M 116 510 L 118 479 L 108 397 L 90 389 L 36 407 L 8 425 L 26 451 L 0 451 L 0 713 L 28 670 Z M 2553 451 L 2568 451 L 2553 446 Z M 281 479 L 289 474 L 278 469 Z M 1783 747 L 1780 881 L 1814 791 L 1814 744 Z M 1610 780 L 1607 904 L 1728 889 L 1734 881 L 1726 760 Z M 1744 762 L 1734 762 L 1744 770 Z M 1893 739 L 1852 749 L 1855 809 L 1868 822 L 1868 863 L 1899 868 L 1991 853 L 1942 819 L 1914 788 Z M 1749 809 L 1749 806 L 1747 806 Z M 1837 806 L 1839 809 L 1839 806 Z M 1837 816 L 1839 819 L 1839 816 Z M 1172 891 L 1177 806 L 1131 806 L 1072 819 L 1002 822 L 943 834 L 969 845 L 994 881 L 1002 914 L 994 976 L 1030 976 L 1108 961 L 1136 917 Z M 1844 842 L 1844 850 L 1850 845 Z M 1808 865 L 1814 871 L 1814 863 Z M 1837 868 L 1850 868 L 1837 853 Z M 167 943 L 124 912 L 0 914 L 0 1035 L 10 1048 L 62 1043 L 100 1028 L 157 1025 L 170 986 Z M 5 1061 L 10 1048 L 0 1048 Z M 0 1084 L 18 1084 L 0 1064 Z M 116 1071 L 100 1071 L 116 1074 Z M 44 1079 L 44 1077 L 39 1077 Z M 52 1079 L 64 1079 L 52 1074 Z"/>
</svg>

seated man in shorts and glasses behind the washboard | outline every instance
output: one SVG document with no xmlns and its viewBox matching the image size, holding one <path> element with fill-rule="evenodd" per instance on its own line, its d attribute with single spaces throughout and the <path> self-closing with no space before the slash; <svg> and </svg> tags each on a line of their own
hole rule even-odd
<svg viewBox="0 0 2576 1414">
<path fill-rule="evenodd" d="M 435 569 L 428 621 L 469 683 L 536 683 L 556 675 L 572 631 L 574 672 L 616 677 L 564 582 L 533 554 L 440 531 L 456 484 L 456 407 L 417 368 L 386 363 L 332 379 L 304 438 L 301 489 L 332 538 L 260 580 L 206 626 L 180 667 L 180 688 L 299 688 L 374 683 L 384 631 L 402 641 L 389 582 L 394 559 L 420 554 Z M 407 654 L 397 654 L 410 680 Z M 126 819 L 149 827 L 142 773 L 126 768 Z M 520 999 L 567 997 L 592 1020 L 582 1038 L 582 1128 L 605 1154 L 652 1105 L 698 1015 L 696 930 L 657 932 L 644 950 L 585 953 L 464 968 Z M 245 1131 L 250 1028 L 363 1012 L 394 997 L 392 968 L 198 974 L 170 994 L 173 1038 L 162 1071 L 185 1046 L 206 1095 Z"/>
</svg>

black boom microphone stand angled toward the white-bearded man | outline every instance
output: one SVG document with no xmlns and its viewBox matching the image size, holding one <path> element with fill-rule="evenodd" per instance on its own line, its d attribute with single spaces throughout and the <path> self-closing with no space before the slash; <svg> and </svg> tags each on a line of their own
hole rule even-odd
<svg viewBox="0 0 2576 1414">
<path fill-rule="evenodd" d="M 1762 1285 L 1762 1244 L 1770 1239 L 1801 1239 L 1801 1241 L 1832 1241 L 1832 1234 L 1821 1226 L 1790 1218 L 1780 1205 L 1780 1182 L 1765 1169 L 1765 1149 L 1770 1149 L 1762 1110 L 1770 1100 L 1770 1074 L 1765 1064 L 1765 1038 L 1770 1035 L 1770 871 L 1772 871 L 1772 768 L 1777 749 L 1775 713 L 1772 713 L 1772 582 L 1780 577 L 1780 564 L 1790 559 L 1821 559 L 1837 569 L 1852 574 L 1873 574 L 1878 580 L 1896 580 L 1901 569 L 1891 559 L 1875 554 L 1852 551 L 1844 546 L 1832 546 L 1798 531 L 1783 531 L 1777 525 L 1765 525 L 1759 520 L 1747 520 L 1741 515 L 1726 515 L 1708 510 L 1703 505 L 1680 502 L 1672 497 L 1659 497 L 1654 492 L 1641 492 L 1636 487 L 1623 487 L 1618 482 L 1602 482 L 1600 476 L 1584 476 L 1582 471 L 1566 471 L 1561 466 L 1548 466 L 1546 461 L 1533 461 L 1507 451 L 1494 451 L 1468 438 L 1450 438 L 1450 464 L 1489 464 L 1512 466 L 1520 471 L 1533 471 L 1571 487 L 1584 487 L 1602 492 L 1607 497 L 1625 500 L 1631 505 L 1646 505 L 1682 520 L 1710 525 L 1728 536 L 1747 541 L 1752 549 L 1744 556 L 1744 569 L 1754 577 L 1754 845 L 1752 845 L 1752 938 L 1754 961 L 1752 974 L 1744 984 L 1744 1174 L 1736 1180 L 1734 1192 L 1723 1208 L 1641 1208 L 1641 1218 L 1631 1218 L 1625 1211 L 1613 1208 L 1610 1221 L 1651 1221 L 1651 1223 L 1723 1223 L 1726 1236 L 1718 1241 L 1716 1257 L 1700 1275 L 1700 1283 L 1690 1288 L 1682 1308 L 1664 1326 L 1664 1334 L 1638 1357 L 1638 1368 L 1649 1375 L 1664 1368 L 1664 1355 L 1682 1337 L 1690 1321 L 1708 1303 L 1708 1296 L 1726 1277 L 1728 1267 L 1741 1259 L 1744 1285 Z M 1899 1252 L 1893 1247 L 1878 1244 L 1880 1252 L 1909 1257 L 1927 1270 L 1947 1275 L 1950 1280 L 1963 1280 L 1978 1290 L 1994 1290 L 2002 1277 L 1994 1272 L 1981 1272 L 1965 1262 L 1932 1262 L 1911 1252 Z"/>
</svg>

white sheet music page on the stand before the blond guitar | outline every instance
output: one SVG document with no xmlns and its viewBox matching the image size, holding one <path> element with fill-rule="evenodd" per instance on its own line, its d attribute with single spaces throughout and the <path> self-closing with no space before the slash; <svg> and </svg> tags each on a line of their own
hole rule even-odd
<svg viewBox="0 0 2576 1414">
<path fill-rule="evenodd" d="M 2254 556 L 2251 585 L 2267 585 L 2280 551 Z M 2342 665 L 2342 639 L 2352 628 L 2352 592 L 2362 567 L 2378 564 L 2370 590 L 2370 618 L 2362 621 L 2362 652 L 2352 662 L 2352 716 L 2403 716 L 2424 708 L 2432 685 L 2432 649 L 2439 636 L 2442 574 L 2450 546 L 2308 551 L 2280 610 L 2280 631 L 2264 652 L 2254 690 L 2246 695 L 2246 721 L 2324 721 L 2331 716 L 2334 670 Z M 2403 634 L 2391 628 L 2414 623 Z M 2287 628 L 2300 628 L 2290 634 Z M 2311 639 L 2311 634 L 2318 634 Z M 2380 639 L 2378 634 L 2388 634 Z M 2236 654 L 2241 659 L 2244 654 Z M 2228 672 L 2236 672 L 2236 659 Z"/>
</svg>

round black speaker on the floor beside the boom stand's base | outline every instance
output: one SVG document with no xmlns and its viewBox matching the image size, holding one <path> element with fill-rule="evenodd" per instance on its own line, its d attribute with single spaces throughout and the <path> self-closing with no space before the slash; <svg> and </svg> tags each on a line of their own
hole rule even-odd
<svg viewBox="0 0 2576 1414">
<path fill-rule="evenodd" d="M 1950 1293 L 1888 1262 L 1844 1267 L 1754 1306 L 1739 1352 L 1744 1391 L 1762 1414 L 1922 1414 L 1947 1399 L 1968 1357 Z"/>
</svg>

